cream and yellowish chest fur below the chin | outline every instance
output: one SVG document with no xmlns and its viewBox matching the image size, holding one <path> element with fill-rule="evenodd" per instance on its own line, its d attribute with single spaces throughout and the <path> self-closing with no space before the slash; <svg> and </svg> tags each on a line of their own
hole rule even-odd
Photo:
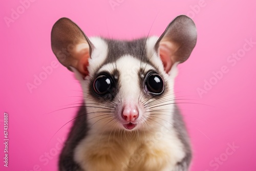
<svg viewBox="0 0 256 171">
<path fill-rule="evenodd" d="M 182 143 L 170 130 L 90 132 L 76 147 L 74 159 L 86 171 L 170 171 L 185 156 Z"/>
</svg>

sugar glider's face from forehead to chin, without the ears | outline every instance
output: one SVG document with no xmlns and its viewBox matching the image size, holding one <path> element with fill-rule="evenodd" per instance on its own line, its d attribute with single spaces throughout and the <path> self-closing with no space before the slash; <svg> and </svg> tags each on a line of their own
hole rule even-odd
<svg viewBox="0 0 256 171">
<path fill-rule="evenodd" d="M 89 75 L 80 79 L 85 105 L 91 106 L 88 122 L 97 129 L 130 131 L 148 130 L 170 120 L 173 79 L 154 49 L 158 38 L 90 40 L 94 51 Z"/>
</svg>

